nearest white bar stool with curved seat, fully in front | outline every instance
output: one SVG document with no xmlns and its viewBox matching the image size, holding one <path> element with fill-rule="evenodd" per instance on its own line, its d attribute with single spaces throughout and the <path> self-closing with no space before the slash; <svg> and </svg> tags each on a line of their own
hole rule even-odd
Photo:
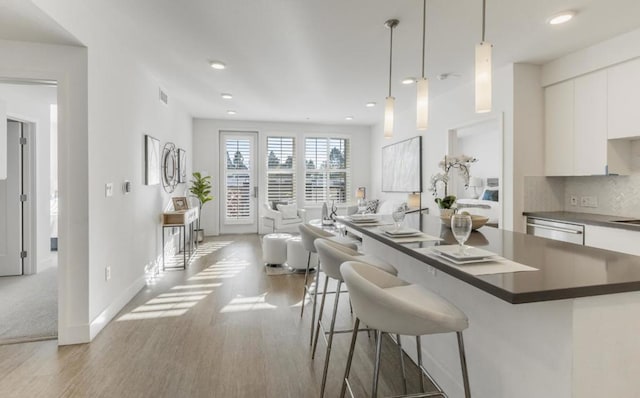
<svg viewBox="0 0 640 398">
<path fill-rule="evenodd" d="M 349 371 L 358 337 L 360 321 L 377 330 L 376 362 L 373 374 L 371 396 L 378 393 L 378 374 L 380 371 L 380 348 L 382 333 L 416 336 L 418 346 L 418 366 L 422 373 L 438 389 L 436 393 L 414 394 L 411 397 L 445 396 L 442 389 L 422 366 L 420 336 L 436 333 L 456 332 L 465 397 L 470 398 L 469 375 L 464 353 L 462 331 L 469 326 L 467 316 L 456 306 L 439 295 L 418 285 L 410 284 L 371 265 L 349 261 L 340 267 L 356 315 L 351 337 L 351 346 L 347 357 L 347 367 L 342 382 L 340 397 L 343 398 L 349 386 Z M 420 378 L 422 381 L 422 377 Z M 422 383 L 421 383 L 422 384 Z"/>
</svg>

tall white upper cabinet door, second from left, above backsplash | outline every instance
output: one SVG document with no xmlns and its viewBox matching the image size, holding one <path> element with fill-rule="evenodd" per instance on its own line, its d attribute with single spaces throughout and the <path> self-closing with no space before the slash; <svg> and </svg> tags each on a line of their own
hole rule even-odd
<svg viewBox="0 0 640 398">
<path fill-rule="evenodd" d="M 573 175 L 607 173 L 607 73 L 574 80 Z"/>
</svg>

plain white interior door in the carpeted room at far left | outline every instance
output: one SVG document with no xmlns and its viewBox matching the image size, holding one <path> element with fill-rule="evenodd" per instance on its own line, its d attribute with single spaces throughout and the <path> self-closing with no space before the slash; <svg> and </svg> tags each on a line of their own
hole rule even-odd
<svg viewBox="0 0 640 398">
<path fill-rule="evenodd" d="M 22 275 L 22 123 L 7 121 L 7 179 L 0 180 L 0 276 Z"/>
</svg>

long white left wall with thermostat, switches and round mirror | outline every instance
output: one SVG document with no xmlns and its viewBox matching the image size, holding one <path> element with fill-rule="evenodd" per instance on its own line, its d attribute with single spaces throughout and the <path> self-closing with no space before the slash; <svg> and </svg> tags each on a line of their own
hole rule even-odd
<svg viewBox="0 0 640 398">
<path fill-rule="evenodd" d="M 79 244 L 82 244 L 80 251 L 87 255 L 83 272 L 88 285 L 83 303 L 88 307 L 73 342 L 89 341 L 144 286 L 145 270 L 161 258 L 160 213 L 171 195 L 160 185 L 144 185 L 144 135 L 158 138 L 161 144 L 171 141 L 185 149 L 189 163 L 191 116 L 170 90 L 167 90 L 169 105 L 159 101 L 158 90 L 165 82 L 138 62 L 136 51 L 119 40 L 109 24 L 77 18 L 78 8 L 84 7 L 82 3 L 58 0 L 34 3 L 87 47 L 88 76 L 80 77 L 84 77 L 88 90 L 85 103 L 90 105 L 85 105 L 84 111 L 88 124 L 82 137 L 73 143 L 80 144 L 73 154 L 84 157 L 85 164 L 77 165 L 81 175 L 73 182 L 79 184 L 80 198 L 86 201 L 86 211 L 79 215 L 83 224 L 78 232 L 85 237 Z M 106 14 L 85 15 L 109 18 Z M 61 111 L 61 120 L 65 116 Z M 59 131 L 62 135 L 62 125 Z M 61 145 L 61 164 L 65 156 L 68 153 Z M 131 181 L 133 187 L 128 195 L 121 188 L 125 180 Z M 109 198 L 105 197 L 106 183 L 114 185 L 114 195 Z M 62 188 L 62 180 L 60 185 Z M 184 185 L 179 186 L 175 194 L 182 195 L 184 190 Z M 62 194 L 61 190 L 61 203 Z M 61 214 L 65 210 L 75 208 L 62 208 Z M 107 266 L 111 267 L 110 281 L 105 280 Z"/>
</svg>

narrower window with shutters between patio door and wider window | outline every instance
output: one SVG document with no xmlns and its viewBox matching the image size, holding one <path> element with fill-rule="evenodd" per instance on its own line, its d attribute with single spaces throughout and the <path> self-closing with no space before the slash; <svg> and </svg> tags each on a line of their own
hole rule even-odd
<svg viewBox="0 0 640 398">
<path fill-rule="evenodd" d="M 293 137 L 267 137 L 267 200 L 295 202 L 296 158 Z"/>
</svg>

